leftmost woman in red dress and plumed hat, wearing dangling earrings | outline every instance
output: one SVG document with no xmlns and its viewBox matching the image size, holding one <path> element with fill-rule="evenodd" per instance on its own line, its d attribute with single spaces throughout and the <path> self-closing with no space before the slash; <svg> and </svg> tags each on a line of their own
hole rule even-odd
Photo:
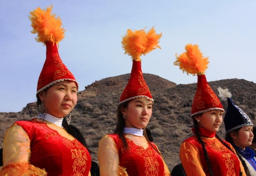
<svg viewBox="0 0 256 176">
<path fill-rule="evenodd" d="M 64 38 L 61 19 L 52 6 L 30 12 L 46 45 L 46 60 L 37 83 L 40 114 L 30 121 L 15 122 L 5 133 L 1 176 L 91 176 L 91 156 L 80 131 L 70 124 L 77 102 L 78 83 L 60 59 L 57 45 Z"/>
</svg>

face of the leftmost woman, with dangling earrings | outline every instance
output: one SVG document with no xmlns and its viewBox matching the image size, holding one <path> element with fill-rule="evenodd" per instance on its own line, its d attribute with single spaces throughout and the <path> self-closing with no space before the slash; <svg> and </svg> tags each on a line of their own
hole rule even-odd
<svg viewBox="0 0 256 176">
<path fill-rule="evenodd" d="M 62 118 L 76 105 L 77 87 L 75 82 L 60 81 L 53 84 L 47 91 L 39 93 L 39 98 L 44 103 L 46 113 Z"/>
</svg>

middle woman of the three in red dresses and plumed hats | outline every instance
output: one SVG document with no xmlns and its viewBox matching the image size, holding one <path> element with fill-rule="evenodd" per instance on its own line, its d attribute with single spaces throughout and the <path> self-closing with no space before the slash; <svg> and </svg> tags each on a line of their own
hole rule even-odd
<svg viewBox="0 0 256 176">
<path fill-rule="evenodd" d="M 160 37 L 153 28 L 148 33 L 128 30 L 123 37 L 125 53 L 132 56 L 132 71 L 117 108 L 116 130 L 99 143 L 100 176 L 170 176 L 145 130 L 154 100 L 142 75 L 140 55 L 159 47 Z"/>
</svg>

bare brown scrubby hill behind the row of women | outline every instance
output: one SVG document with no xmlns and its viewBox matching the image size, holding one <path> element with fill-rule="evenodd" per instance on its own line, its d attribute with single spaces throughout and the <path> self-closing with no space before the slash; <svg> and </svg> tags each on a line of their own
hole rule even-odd
<svg viewBox="0 0 256 176">
<path fill-rule="evenodd" d="M 130 74 L 109 77 L 95 81 L 78 92 L 78 102 L 72 111 L 71 123 L 84 134 L 92 151 L 92 159 L 97 161 L 98 143 L 101 137 L 113 133 L 116 124 L 116 108 Z M 155 100 L 153 114 L 148 124 L 154 142 L 164 156 L 170 171 L 180 163 L 179 147 L 181 142 L 192 135 L 190 118 L 196 83 L 179 84 L 153 74 L 144 74 L 144 79 Z M 243 109 L 256 124 L 256 84 L 243 79 L 226 79 L 209 82 L 217 93 L 217 88 L 228 88 L 233 101 Z M 81 85 L 80 85 L 81 86 Z M 224 109 L 227 102 L 222 101 Z M 36 103 L 32 102 L 18 113 L 0 113 L 0 147 L 3 146 L 4 133 L 17 120 L 29 120 L 37 116 Z M 224 137 L 224 124 L 218 132 Z"/>
</svg>

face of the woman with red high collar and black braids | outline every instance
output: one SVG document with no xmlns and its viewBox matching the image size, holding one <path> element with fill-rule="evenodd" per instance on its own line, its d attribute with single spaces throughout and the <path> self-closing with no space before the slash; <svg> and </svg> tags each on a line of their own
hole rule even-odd
<svg viewBox="0 0 256 176">
<path fill-rule="evenodd" d="M 198 117 L 195 117 L 195 119 L 199 120 L 199 127 L 202 127 L 211 132 L 217 132 L 223 121 L 222 114 L 223 112 L 221 110 L 210 110 L 204 112 Z"/>
</svg>

